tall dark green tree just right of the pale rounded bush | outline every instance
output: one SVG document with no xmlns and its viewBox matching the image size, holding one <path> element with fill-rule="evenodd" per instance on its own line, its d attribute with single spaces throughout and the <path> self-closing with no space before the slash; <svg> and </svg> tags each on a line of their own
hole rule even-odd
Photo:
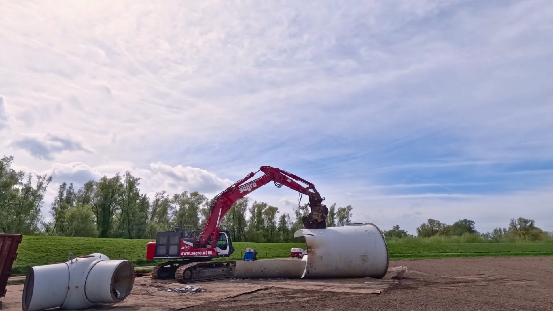
<svg viewBox="0 0 553 311">
<path fill-rule="evenodd" d="M 92 211 L 96 216 L 96 227 L 99 237 L 111 237 L 113 216 L 117 212 L 119 198 L 123 190 L 121 176 L 112 178 L 103 176 L 95 183 L 92 197 Z"/>
</svg>

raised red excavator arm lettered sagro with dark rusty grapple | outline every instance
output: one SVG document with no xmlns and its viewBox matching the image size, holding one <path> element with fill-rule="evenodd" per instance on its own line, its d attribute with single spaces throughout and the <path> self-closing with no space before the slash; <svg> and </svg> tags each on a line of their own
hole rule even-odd
<svg viewBox="0 0 553 311">
<path fill-rule="evenodd" d="M 263 176 L 248 182 L 255 173 L 249 173 L 245 178 L 238 180 L 238 182 L 232 184 L 220 194 L 215 196 L 212 205 L 210 206 L 211 213 L 204 226 L 204 231 L 199 236 L 199 245 L 205 247 L 207 242 L 211 242 L 211 245 L 215 245 L 217 242 L 221 220 L 231 209 L 232 204 L 237 200 L 251 193 L 251 191 L 258 189 L 269 182 L 274 182 L 276 186 L 280 187 L 285 185 L 290 189 L 296 190 L 301 194 L 309 196 L 309 207 L 311 212 L 309 215 L 302 217 L 302 222 L 307 229 L 319 229 L 326 227 L 326 216 L 328 215 L 328 209 L 325 205 L 322 205 L 324 198 L 315 189 L 315 185 L 307 182 L 292 173 L 286 172 L 274 167 L 260 167 L 258 172 L 264 173 Z M 297 181 L 307 185 L 307 187 L 300 185 Z"/>
</svg>

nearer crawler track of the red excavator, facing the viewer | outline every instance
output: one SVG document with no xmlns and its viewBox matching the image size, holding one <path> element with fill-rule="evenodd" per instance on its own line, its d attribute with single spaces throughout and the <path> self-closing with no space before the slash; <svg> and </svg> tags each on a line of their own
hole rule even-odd
<svg viewBox="0 0 553 311">
<path fill-rule="evenodd" d="M 176 269 L 175 278 L 180 283 L 213 281 L 234 277 L 236 261 L 192 262 Z"/>
</svg>

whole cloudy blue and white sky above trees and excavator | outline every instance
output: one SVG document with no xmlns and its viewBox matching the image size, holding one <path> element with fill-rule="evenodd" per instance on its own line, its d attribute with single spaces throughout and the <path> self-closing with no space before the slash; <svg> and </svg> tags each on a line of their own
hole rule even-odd
<svg viewBox="0 0 553 311">
<path fill-rule="evenodd" d="M 217 194 L 260 166 L 354 222 L 553 231 L 553 2 L 2 1 L 0 151 Z M 292 213 L 298 195 L 249 195 Z M 304 198 L 304 200 L 306 200 Z"/>
</svg>

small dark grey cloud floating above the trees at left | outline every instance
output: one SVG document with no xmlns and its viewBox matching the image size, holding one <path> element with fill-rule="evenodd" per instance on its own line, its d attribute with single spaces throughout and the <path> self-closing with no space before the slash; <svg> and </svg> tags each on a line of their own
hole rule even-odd
<svg viewBox="0 0 553 311">
<path fill-rule="evenodd" d="M 85 147 L 66 133 L 26 134 L 15 139 L 9 146 L 23 149 L 37 159 L 46 160 L 53 160 L 54 154 L 64 151 L 93 152 L 92 149 Z"/>
</svg>

